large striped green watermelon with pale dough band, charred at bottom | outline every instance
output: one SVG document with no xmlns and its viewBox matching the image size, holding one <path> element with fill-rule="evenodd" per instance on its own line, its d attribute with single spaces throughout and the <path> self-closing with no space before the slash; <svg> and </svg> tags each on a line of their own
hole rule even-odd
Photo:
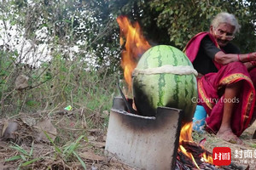
<svg viewBox="0 0 256 170">
<path fill-rule="evenodd" d="M 191 122 L 197 98 L 193 65 L 177 48 L 158 45 L 149 48 L 132 75 L 132 94 L 142 116 L 155 116 L 159 106 L 183 110 L 184 122 Z M 195 99 L 193 99 L 195 98 Z"/>
</svg>

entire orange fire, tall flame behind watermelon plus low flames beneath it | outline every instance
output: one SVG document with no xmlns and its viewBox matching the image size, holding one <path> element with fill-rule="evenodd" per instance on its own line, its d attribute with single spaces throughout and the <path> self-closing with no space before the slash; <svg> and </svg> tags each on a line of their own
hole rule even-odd
<svg viewBox="0 0 256 170">
<path fill-rule="evenodd" d="M 128 88 L 131 91 L 132 85 L 132 71 L 137 66 L 137 62 L 140 56 L 151 48 L 148 41 L 143 37 L 143 32 L 137 22 L 131 24 L 125 16 L 119 16 L 117 22 L 120 27 L 120 45 L 121 47 L 125 46 L 125 49 L 122 51 L 121 66 L 124 69 L 125 82 L 128 84 Z M 192 139 L 192 122 L 186 123 L 183 125 L 180 137 L 179 137 L 179 151 L 182 151 L 185 156 L 188 156 L 195 164 L 195 167 L 198 167 L 194 156 L 187 151 L 183 145 L 183 141 L 193 142 Z M 201 159 L 207 163 L 212 164 L 212 156 L 203 153 Z"/>
</svg>

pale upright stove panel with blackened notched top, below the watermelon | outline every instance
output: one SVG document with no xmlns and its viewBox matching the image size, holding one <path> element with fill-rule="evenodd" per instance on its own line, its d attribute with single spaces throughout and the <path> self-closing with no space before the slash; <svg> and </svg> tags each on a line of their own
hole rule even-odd
<svg viewBox="0 0 256 170">
<path fill-rule="evenodd" d="M 157 115 L 137 116 L 113 103 L 106 153 L 139 169 L 174 169 L 183 112 L 159 107 Z"/>
</svg>

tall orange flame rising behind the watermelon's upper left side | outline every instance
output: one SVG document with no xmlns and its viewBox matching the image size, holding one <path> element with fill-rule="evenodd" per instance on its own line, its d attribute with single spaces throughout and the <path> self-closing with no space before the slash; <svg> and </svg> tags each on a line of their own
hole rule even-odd
<svg viewBox="0 0 256 170">
<path fill-rule="evenodd" d="M 151 46 L 143 37 L 138 22 L 132 25 L 126 16 L 119 16 L 117 22 L 120 27 L 120 45 L 125 45 L 122 51 L 121 66 L 124 69 L 125 82 L 131 90 L 132 71 L 137 66 L 139 57 Z"/>
</svg>

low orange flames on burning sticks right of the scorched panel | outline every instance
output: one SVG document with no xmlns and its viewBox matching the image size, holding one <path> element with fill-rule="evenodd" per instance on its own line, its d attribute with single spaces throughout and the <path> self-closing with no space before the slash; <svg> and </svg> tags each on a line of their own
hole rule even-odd
<svg viewBox="0 0 256 170">
<path fill-rule="evenodd" d="M 185 123 L 181 129 L 180 136 L 179 136 L 179 151 L 182 151 L 185 156 L 188 156 L 195 164 L 195 167 L 200 169 L 195 161 L 194 156 L 188 152 L 182 145 L 183 141 L 190 141 L 193 142 L 192 139 L 192 122 Z M 204 152 L 202 154 L 202 161 L 205 161 L 207 163 L 213 164 L 212 156 L 207 156 L 207 153 Z"/>
</svg>

